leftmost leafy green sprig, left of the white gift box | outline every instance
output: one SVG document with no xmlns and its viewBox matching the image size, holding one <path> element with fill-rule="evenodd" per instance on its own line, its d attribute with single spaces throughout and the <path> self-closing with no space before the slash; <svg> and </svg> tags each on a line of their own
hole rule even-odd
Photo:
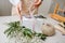
<svg viewBox="0 0 65 43">
<path fill-rule="evenodd" d="M 20 22 L 9 23 L 9 28 L 4 31 L 4 33 L 8 34 L 8 37 L 12 37 L 12 34 L 18 32 L 22 30 L 22 27 L 20 26 Z"/>
</svg>

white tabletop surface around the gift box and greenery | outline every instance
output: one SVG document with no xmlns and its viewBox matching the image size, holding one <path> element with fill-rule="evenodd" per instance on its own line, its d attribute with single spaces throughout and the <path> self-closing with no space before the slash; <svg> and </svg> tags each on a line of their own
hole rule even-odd
<svg viewBox="0 0 65 43">
<path fill-rule="evenodd" d="M 0 43 L 5 43 L 8 41 L 6 35 L 3 33 L 4 30 L 8 28 L 5 24 L 10 22 L 15 22 L 15 20 L 20 20 L 20 18 L 17 16 L 1 16 L 0 17 Z M 25 18 L 25 20 L 27 19 Z M 48 18 L 46 23 L 57 26 L 57 22 L 52 18 Z M 44 43 L 65 43 L 65 35 L 62 35 L 61 32 L 56 30 L 55 35 L 48 37 Z"/>
</svg>

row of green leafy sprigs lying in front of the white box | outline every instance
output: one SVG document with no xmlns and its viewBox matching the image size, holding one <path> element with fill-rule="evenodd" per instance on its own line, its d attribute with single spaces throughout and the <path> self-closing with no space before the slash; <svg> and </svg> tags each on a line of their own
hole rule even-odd
<svg viewBox="0 0 65 43">
<path fill-rule="evenodd" d="M 9 23 L 9 28 L 4 31 L 6 37 L 14 38 L 17 37 L 18 34 L 23 37 L 27 37 L 29 39 L 32 39 L 34 37 L 38 37 L 41 40 L 46 40 L 47 35 L 42 33 L 37 33 L 36 31 L 32 31 L 29 28 L 26 28 L 25 26 L 21 26 L 20 22 L 13 22 Z"/>
</svg>

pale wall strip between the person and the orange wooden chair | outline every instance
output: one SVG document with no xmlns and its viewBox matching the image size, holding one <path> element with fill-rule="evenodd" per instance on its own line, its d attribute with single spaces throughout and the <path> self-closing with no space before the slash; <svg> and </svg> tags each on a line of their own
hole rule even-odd
<svg viewBox="0 0 65 43">
<path fill-rule="evenodd" d="M 48 14 L 52 2 L 53 2 L 52 0 L 43 0 L 39 9 L 39 13 L 44 14 L 44 15 Z"/>
</svg>

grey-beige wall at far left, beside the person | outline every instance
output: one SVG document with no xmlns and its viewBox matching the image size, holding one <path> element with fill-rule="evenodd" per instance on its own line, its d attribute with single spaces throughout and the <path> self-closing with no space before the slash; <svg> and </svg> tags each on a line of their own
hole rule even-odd
<svg viewBox="0 0 65 43">
<path fill-rule="evenodd" d="M 11 15 L 11 4 L 9 0 L 0 0 L 0 16 Z"/>
</svg>

